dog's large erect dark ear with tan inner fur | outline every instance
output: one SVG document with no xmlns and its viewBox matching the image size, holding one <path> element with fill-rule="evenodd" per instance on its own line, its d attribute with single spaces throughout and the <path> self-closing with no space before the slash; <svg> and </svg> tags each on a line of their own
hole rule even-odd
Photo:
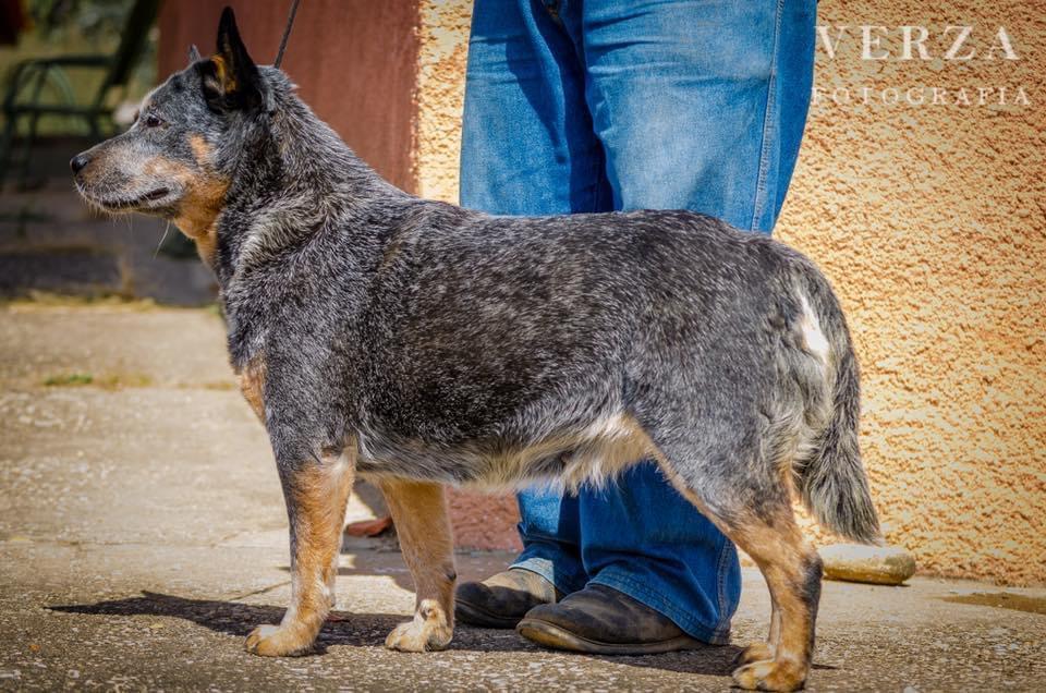
<svg viewBox="0 0 1046 693">
<path fill-rule="evenodd" d="M 257 108 L 267 101 L 265 83 L 240 38 L 232 8 L 218 21 L 218 52 L 202 65 L 204 93 L 216 110 Z"/>
</svg>

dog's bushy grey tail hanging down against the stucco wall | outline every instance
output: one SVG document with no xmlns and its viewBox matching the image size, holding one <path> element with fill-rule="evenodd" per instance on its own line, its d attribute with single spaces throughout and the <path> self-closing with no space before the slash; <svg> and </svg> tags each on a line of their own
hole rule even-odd
<svg viewBox="0 0 1046 693">
<path fill-rule="evenodd" d="M 858 447 L 861 381 L 842 309 L 819 271 L 804 272 L 812 303 L 826 333 L 835 372 L 830 415 L 813 449 L 796 466 L 803 504 L 837 534 L 862 544 L 881 542 L 879 520 Z"/>
</svg>

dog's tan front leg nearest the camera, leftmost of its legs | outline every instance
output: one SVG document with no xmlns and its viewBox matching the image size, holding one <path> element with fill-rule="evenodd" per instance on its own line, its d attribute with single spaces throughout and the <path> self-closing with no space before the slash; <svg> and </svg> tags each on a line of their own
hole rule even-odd
<svg viewBox="0 0 1046 693">
<path fill-rule="evenodd" d="M 247 652 L 256 655 L 307 652 L 333 604 L 354 464 L 341 451 L 306 458 L 277 462 L 291 527 L 291 605 L 279 625 L 259 625 L 247 636 Z"/>
</svg>

